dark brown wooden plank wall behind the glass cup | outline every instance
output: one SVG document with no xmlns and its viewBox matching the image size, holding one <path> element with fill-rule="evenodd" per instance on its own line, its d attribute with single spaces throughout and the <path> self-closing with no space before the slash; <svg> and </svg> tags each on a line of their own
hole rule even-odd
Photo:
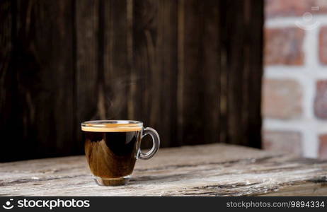
<svg viewBox="0 0 327 212">
<path fill-rule="evenodd" d="M 260 148 L 262 30 L 256 0 L 1 0 L 0 162 L 81 154 L 90 119 Z"/>
</svg>

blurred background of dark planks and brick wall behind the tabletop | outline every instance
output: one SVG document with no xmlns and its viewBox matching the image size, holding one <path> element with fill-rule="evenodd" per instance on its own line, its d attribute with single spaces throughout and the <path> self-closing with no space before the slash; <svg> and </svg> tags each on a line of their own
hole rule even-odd
<svg viewBox="0 0 327 212">
<path fill-rule="evenodd" d="M 326 66 L 325 0 L 1 0 L 0 162 L 83 154 L 91 119 L 327 158 Z"/>
</svg>

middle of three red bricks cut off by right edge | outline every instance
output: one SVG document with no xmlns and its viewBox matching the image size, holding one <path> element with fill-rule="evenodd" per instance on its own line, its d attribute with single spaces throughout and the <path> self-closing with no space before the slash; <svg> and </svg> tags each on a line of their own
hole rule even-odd
<svg viewBox="0 0 327 212">
<path fill-rule="evenodd" d="M 319 119 L 327 119 L 327 80 L 317 81 L 316 83 L 314 114 Z"/>
</svg>

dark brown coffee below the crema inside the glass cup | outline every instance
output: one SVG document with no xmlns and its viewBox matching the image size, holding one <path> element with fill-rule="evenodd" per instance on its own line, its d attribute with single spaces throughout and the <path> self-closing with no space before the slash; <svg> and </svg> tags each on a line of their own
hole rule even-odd
<svg viewBox="0 0 327 212">
<path fill-rule="evenodd" d="M 85 154 L 93 175 L 103 179 L 131 175 L 140 131 L 84 131 Z"/>
</svg>

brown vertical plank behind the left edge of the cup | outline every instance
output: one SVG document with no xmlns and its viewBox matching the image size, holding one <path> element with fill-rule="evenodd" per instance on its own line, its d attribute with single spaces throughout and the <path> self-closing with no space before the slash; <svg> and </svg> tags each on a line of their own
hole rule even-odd
<svg viewBox="0 0 327 212">
<path fill-rule="evenodd" d="M 100 95 L 101 81 L 98 78 L 98 10 L 99 1 L 75 1 L 74 5 L 75 41 L 75 130 L 76 148 L 84 153 L 80 124 L 99 119 L 103 114 Z"/>
</svg>

